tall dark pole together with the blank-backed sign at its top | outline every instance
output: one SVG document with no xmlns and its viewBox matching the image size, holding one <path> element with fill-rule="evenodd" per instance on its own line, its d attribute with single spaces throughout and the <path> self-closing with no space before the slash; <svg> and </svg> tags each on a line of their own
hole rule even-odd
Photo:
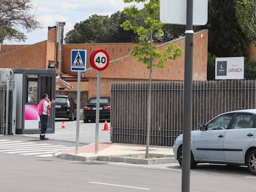
<svg viewBox="0 0 256 192">
<path fill-rule="evenodd" d="M 161 0 L 160 20 L 163 23 L 186 24 L 183 91 L 182 192 L 190 186 L 190 140 L 192 130 L 193 25 L 207 23 L 208 0 Z"/>
</svg>

